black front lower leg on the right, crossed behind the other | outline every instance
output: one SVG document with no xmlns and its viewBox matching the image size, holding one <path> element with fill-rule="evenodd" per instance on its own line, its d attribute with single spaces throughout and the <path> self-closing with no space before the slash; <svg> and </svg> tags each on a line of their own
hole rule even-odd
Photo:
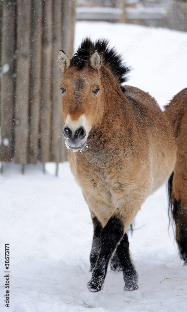
<svg viewBox="0 0 187 312">
<path fill-rule="evenodd" d="M 125 290 L 135 290 L 138 289 L 138 274 L 131 262 L 130 253 L 129 253 L 129 241 L 127 233 L 124 234 L 123 239 L 120 244 L 117 246 L 116 254 L 119 258 L 123 278 L 125 281 Z"/>
</svg>

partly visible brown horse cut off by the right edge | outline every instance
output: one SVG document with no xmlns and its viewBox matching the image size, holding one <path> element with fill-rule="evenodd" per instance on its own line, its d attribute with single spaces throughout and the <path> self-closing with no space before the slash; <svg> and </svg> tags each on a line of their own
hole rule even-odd
<svg viewBox="0 0 187 312">
<path fill-rule="evenodd" d="M 169 210 L 176 227 L 180 257 L 187 264 L 187 88 L 171 100 L 165 110 L 177 143 L 174 173 L 168 181 Z"/>
</svg>

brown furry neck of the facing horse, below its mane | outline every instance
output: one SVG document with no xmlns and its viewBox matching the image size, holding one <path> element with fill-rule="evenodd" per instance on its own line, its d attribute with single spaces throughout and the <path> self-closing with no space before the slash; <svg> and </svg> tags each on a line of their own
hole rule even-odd
<svg viewBox="0 0 187 312">
<path fill-rule="evenodd" d="M 129 101 L 119 83 L 105 67 L 101 71 L 102 118 L 91 131 L 91 144 L 111 149 L 115 142 L 128 144 L 133 127 L 134 115 Z"/>
</svg>

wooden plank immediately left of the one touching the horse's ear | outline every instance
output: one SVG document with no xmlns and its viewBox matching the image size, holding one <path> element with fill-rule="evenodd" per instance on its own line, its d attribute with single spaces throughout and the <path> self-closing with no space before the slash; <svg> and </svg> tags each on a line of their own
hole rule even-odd
<svg viewBox="0 0 187 312">
<path fill-rule="evenodd" d="M 41 156 L 42 163 L 51 158 L 52 114 L 52 7 L 53 2 L 44 1 L 42 103 L 41 103 Z"/>
</svg>

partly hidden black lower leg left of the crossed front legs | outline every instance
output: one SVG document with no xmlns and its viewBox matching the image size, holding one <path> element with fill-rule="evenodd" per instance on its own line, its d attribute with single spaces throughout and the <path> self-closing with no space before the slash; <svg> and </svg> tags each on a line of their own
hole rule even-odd
<svg viewBox="0 0 187 312">
<path fill-rule="evenodd" d="M 101 249 L 101 231 L 103 229 L 101 222 L 97 219 L 97 217 L 93 217 L 92 222 L 94 227 L 94 234 L 90 253 L 90 271 L 93 270 L 99 256 Z"/>
</svg>

